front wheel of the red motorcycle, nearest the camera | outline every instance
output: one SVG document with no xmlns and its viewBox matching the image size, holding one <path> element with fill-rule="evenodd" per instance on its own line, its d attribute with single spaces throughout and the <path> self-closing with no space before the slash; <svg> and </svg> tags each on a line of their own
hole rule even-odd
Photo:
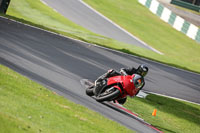
<svg viewBox="0 0 200 133">
<path fill-rule="evenodd" d="M 110 88 L 107 89 L 105 92 L 99 94 L 96 97 L 96 100 L 98 102 L 103 102 L 103 101 L 112 101 L 114 98 L 118 97 L 120 95 L 120 91 L 117 88 Z"/>
</svg>

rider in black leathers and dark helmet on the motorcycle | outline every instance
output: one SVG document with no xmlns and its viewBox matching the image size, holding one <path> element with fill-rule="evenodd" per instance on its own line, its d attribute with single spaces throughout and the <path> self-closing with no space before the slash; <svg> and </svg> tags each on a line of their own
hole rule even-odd
<svg viewBox="0 0 200 133">
<path fill-rule="evenodd" d="M 111 69 L 108 70 L 107 73 L 103 74 L 102 76 L 100 76 L 96 81 L 95 84 L 98 84 L 98 82 L 102 81 L 105 78 L 109 78 L 109 77 L 113 77 L 113 76 L 119 76 L 119 75 L 132 75 L 132 74 L 138 74 L 140 76 L 142 76 L 142 78 L 144 79 L 144 77 L 147 75 L 148 73 L 148 67 L 144 64 L 139 65 L 139 67 L 136 69 L 134 67 L 132 68 L 121 68 L 120 73 Z M 142 80 L 142 86 L 139 88 L 139 90 L 141 90 L 144 87 L 144 80 Z M 139 92 L 139 91 L 138 91 Z M 137 94 L 136 94 L 137 95 Z M 117 102 L 119 102 L 120 104 L 124 104 L 126 102 L 126 98 L 123 99 L 119 99 L 117 100 Z"/>
</svg>

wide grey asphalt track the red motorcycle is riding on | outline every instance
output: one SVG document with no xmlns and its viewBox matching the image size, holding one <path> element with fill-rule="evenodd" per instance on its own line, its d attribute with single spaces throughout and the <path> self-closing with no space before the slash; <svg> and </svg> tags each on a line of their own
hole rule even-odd
<svg viewBox="0 0 200 133">
<path fill-rule="evenodd" d="M 86 96 L 81 79 L 95 80 L 108 69 L 145 63 L 144 90 L 200 103 L 200 75 L 99 48 L 0 18 L 0 64 L 29 77 L 137 132 L 155 132 L 129 116 Z"/>
</svg>

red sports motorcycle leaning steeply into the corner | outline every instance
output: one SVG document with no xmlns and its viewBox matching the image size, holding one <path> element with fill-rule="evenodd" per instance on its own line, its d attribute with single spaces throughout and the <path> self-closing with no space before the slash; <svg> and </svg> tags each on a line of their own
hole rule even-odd
<svg viewBox="0 0 200 133">
<path fill-rule="evenodd" d="M 138 74 L 120 75 L 95 83 L 86 89 L 86 94 L 94 96 L 98 102 L 115 101 L 137 95 L 143 86 L 144 78 Z"/>
</svg>

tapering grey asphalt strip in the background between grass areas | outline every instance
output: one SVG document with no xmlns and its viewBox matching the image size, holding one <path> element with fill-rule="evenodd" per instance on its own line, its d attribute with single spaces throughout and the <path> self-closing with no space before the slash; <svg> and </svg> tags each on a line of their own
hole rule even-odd
<svg viewBox="0 0 200 133">
<path fill-rule="evenodd" d="M 92 9 L 85 6 L 81 0 L 42 0 L 56 9 L 66 18 L 79 24 L 90 31 L 113 38 L 115 40 L 134 44 L 143 48 L 151 49 L 145 46 L 143 42 L 131 37 L 126 32 L 122 31 L 111 22 L 95 13 Z"/>
</svg>

